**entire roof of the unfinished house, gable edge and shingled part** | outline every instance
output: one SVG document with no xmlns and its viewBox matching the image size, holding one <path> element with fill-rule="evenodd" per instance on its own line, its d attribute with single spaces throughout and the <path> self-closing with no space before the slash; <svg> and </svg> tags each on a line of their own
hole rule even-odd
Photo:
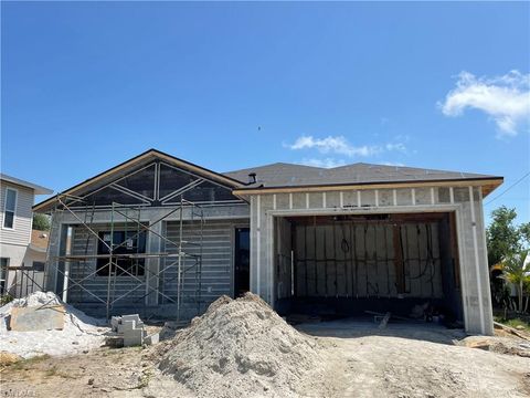
<svg viewBox="0 0 530 398">
<path fill-rule="evenodd" d="M 375 186 L 380 188 L 396 186 L 433 185 L 476 185 L 483 187 L 483 195 L 487 196 L 504 181 L 502 177 L 481 174 L 434 170 L 425 168 L 384 166 L 357 163 L 335 168 L 275 163 L 265 166 L 251 167 L 229 172 L 215 172 L 190 161 L 179 159 L 157 149 L 145 153 L 126 160 L 95 177 L 86 179 L 61 195 L 78 195 L 97 184 L 119 178 L 131 168 L 148 164 L 155 159 L 163 160 L 172 166 L 189 170 L 210 180 L 218 181 L 234 189 L 234 195 L 247 195 L 271 190 L 324 190 L 333 187 Z M 256 174 L 256 182 L 248 184 L 248 175 Z M 4 175 L 2 175 L 3 178 Z M 39 187 L 39 186 L 35 186 Z M 42 188 L 42 187 L 40 187 Z M 45 189 L 45 188 L 42 188 Z M 46 193 L 51 193 L 46 192 Z M 56 201 L 56 197 L 44 200 L 33 207 L 33 211 L 47 211 Z"/>
</svg>

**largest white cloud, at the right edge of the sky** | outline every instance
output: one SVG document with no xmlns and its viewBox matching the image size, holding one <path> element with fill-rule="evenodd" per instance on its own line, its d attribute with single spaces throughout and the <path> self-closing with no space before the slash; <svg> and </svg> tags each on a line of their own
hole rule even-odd
<svg viewBox="0 0 530 398">
<path fill-rule="evenodd" d="M 460 72 L 456 88 L 438 106 L 446 116 L 459 116 L 466 108 L 479 109 L 495 121 L 500 135 L 515 136 L 530 119 L 530 74 L 511 71 L 488 78 Z"/>
</svg>

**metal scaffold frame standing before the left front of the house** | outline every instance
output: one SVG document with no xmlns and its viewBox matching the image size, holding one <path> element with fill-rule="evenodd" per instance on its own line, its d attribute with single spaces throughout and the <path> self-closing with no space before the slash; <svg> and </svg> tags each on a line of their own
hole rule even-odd
<svg viewBox="0 0 530 398">
<path fill-rule="evenodd" d="M 55 208 L 52 213 L 52 226 L 50 231 L 50 242 L 49 250 L 46 254 L 46 266 L 44 281 L 47 281 L 50 277 L 50 272 L 56 272 L 54 277 L 61 275 L 63 279 L 63 290 L 57 294 L 63 297 L 63 301 L 66 301 L 67 293 L 73 289 L 78 289 L 82 296 L 84 293 L 91 295 L 97 302 L 100 302 L 105 305 L 106 317 L 110 317 L 112 310 L 116 302 L 130 296 L 134 292 L 144 287 L 146 293 L 139 297 L 135 297 L 136 302 L 142 301 L 144 304 L 146 298 L 155 294 L 158 297 L 162 297 L 166 303 L 173 303 L 177 305 L 176 320 L 181 321 L 181 310 L 184 298 L 190 298 L 190 294 L 187 293 L 184 289 L 186 275 L 190 272 L 194 273 L 194 290 L 192 295 L 192 302 L 197 304 L 197 313 L 201 312 L 202 304 L 202 242 L 203 242 L 203 226 L 204 226 L 204 211 L 201 206 L 181 198 L 180 203 L 176 205 L 167 211 L 163 216 L 157 218 L 156 220 L 146 223 L 141 221 L 141 211 L 146 207 L 135 206 L 135 205 L 121 205 L 113 202 L 110 207 L 107 208 L 96 208 L 94 203 L 87 203 L 85 199 L 80 197 L 74 197 L 70 195 L 60 193 L 56 196 Z M 62 239 L 62 228 L 64 226 L 70 226 L 63 223 L 63 214 L 67 212 L 75 220 L 75 227 L 81 227 L 87 232 L 87 240 L 85 245 L 85 252 L 83 254 L 75 254 L 66 252 L 62 255 L 53 255 L 51 248 L 57 245 Z M 97 212 L 110 212 L 109 222 L 105 221 L 104 223 L 94 222 L 95 216 Z M 188 213 L 188 218 L 184 217 L 184 212 Z M 172 240 L 155 230 L 158 223 L 162 221 L 168 221 L 171 216 L 178 213 L 179 222 L 179 239 Z M 78 214 L 84 214 L 80 217 Z M 174 221 L 174 218 L 171 218 L 171 221 Z M 102 239 L 98 234 L 102 226 L 105 226 L 106 229 L 110 230 L 110 242 Z M 108 226 L 108 227 L 107 227 Z M 184 226 L 187 228 L 188 235 L 192 235 L 193 240 L 184 239 Z M 125 237 L 123 242 L 114 242 L 114 232 L 116 230 L 125 231 Z M 127 233 L 131 234 L 127 234 Z M 126 244 L 130 244 L 130 241 L 138 240 L 140 234 L 146 232 L 146 239 L 148 234 L 153 234 L 159 238 L 165 245 L 169 245 L 177 249 L 177 252 L 170 251 L 148 251 L 146 248 L 145 252 L 136 253 L 119 253 L 118 249 L 123 248 Z M 64 233 L 64 232 L 63 232 Z M 95 239 L 95 242 L 103 244 L 108 253 L 97 254 L 89 252 L 91 239 Z M 127 243 L 129 242 L 129 243 Z M 191 248 L 194 248 L 190 251 Z M 95 270 L 88 274 L 84 273 L 84 270 L 87 270 L 87 265 L 92 265 L 91 262 L 97 262 L 99 259 L 106 259 L 104 266 L 95 266 Z M 158 268 L 156 271 L 152 271 L 150 266 L 147 266 L 147 260 L 156 260 L 158 262 Z M 138 271 L 139 261 L 144 260 L 142 269 L 144 275 L 140 277 L 137 274 L 132 273 L 130 269 L 126 269 L 119 264 L 119 260 L 131 260 L 136 262 L 136 270 Z M 163 261 L 162 261 L 163 260 Z M 59 266 L 60 262 L 64 263 L 64 268 Z M 72 263 L 77 262 L 83 270 L 82 277 L 76 280 L 71 271 Z M 191 264 L 189 264 L 191 262 Z M 52 264 L 54 266 L 52 266 Z M 94 294 L 86 285 L 85 282 L 96 277 L 97 274 L 102 273 L 102 270 L 108 269 L 107 276 L 107 291 L 106 297 Z M 151 277 L 156 277 L 159 281 L 163 279 L 167 271 L 176 269 L 176 275 L 169 280 L 163 280 L 160 289 L 160 284 L 151 285 L 149 281 Z M 105 271 L 105 273 L 107 273 Z M 126 289 L 125 292 L 121 291 L 119 296 L 116 297 L 116 286 L 121 282 L 121 279 L 118 276 L 129 276 L 128 281 L 136 282 L 135 286 Z M 163 292 L 163 285 L 177 280 L 177 294 L 171 296 Z M 55 283 L 57 282 L 54 279 Z M 59 289 L 57 289 L 59 290 Z M 46 303 L 47 304 L 47 303 Z M 44 305 L 46 305 L 44 304 Z"/>
</svg>

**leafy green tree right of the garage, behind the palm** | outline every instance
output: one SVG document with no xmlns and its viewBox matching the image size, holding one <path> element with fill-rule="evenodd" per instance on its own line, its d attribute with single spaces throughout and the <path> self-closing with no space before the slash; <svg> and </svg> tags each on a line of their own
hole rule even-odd
<svg viewBox="0 0 530 398">
<path fill-rule="evenodd" d="M 529 247 L 530 222 L 516 226 L 516 209 L 508 209 L 506 206 L 494 210 L 491 218 L 491 223 L 486 231 L 486 239 L 488 262 L 490 265 L 495 265 L 502 259 Z"/>
</svg>

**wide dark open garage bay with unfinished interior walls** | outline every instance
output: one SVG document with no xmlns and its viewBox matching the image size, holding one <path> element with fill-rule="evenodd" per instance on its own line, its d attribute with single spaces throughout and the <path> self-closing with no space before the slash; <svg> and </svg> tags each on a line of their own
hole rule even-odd
<svg viewBox="0 0 530 398">
<path fill-rule="evenodd" d="M 332 320 L 392 313 L 459 326 L 454 213 L 284 217 L 275 307 Z"/>
</svg>

